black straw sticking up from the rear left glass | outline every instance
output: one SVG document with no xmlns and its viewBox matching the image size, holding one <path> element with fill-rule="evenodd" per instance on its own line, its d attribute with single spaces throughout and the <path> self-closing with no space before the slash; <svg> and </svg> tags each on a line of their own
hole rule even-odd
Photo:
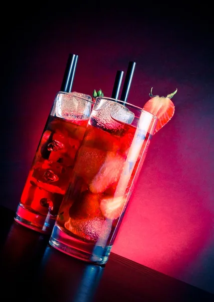
<svg viewBox="0 0 214 302">
<path fill-rule="evenodd" d="M 74 81 L 74 73 L 76 69 L 76 66 L 74 69 L 75 61 L 77 63 L 76 57 L 78 58 L 78 55 L 72 53 L 69 54 L 60 91 L 71 92 L 72 84 Z"/>
</svg>

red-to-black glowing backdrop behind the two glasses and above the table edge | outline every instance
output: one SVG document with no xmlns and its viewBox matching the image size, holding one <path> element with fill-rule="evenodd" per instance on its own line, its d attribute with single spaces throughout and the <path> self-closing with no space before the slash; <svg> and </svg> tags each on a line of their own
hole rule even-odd
<svg viewBox="0 0 214 302">
<path fill-rule="evenodd" d="M 159 95 L 178 92 L 174 117 L 152 139 L 112 251 L 214 293 L 208 12 L 92 3 L 44 9 L 37 4 L 24 13 L 19 6 L 2 23 L 1 204 L 18 206 L 68 54 L 79 55 L 73 91 L 90 95 L 101 88 L 110 96 L 116 71 L 135 61 L 128 102 L 143 107 L 151 87 Z"/>
</svg>

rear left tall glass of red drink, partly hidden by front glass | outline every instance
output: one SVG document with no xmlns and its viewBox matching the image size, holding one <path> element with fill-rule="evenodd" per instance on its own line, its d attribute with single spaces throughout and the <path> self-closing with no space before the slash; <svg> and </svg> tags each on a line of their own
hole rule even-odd
<svg viewBox="0 0 214 302">
<path fill-rule="evenodd" d="M 18 223 L 51 234 L 92 104 L 88 95 L 57 93 L 22 192 Z"/>
</svg>

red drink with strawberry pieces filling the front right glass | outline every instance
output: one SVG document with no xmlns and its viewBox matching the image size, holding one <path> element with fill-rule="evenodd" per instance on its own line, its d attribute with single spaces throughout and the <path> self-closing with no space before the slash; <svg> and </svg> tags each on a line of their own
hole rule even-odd
<svg viewBox="0 0 214 302">
<path fill-rule="evenodd" d="M 91 119 L 57 217 L 60 230 L 86 242 L 113 244 L 150 138 L 124 123 L 119 130 L 103 130 Z"/>
</svg>

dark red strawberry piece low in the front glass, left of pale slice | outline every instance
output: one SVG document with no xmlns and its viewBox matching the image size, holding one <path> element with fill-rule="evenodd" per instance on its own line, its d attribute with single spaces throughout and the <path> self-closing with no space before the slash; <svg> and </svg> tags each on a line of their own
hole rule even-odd
<svg viewBox="0 0 214 302">
<path fill-rule="evenodd" d="M 100 196 L 89 191 L 83 192 L 79 200 L 70 207 L 69 216 L 73 219 L 94 218 L 102 216 Z"/>
</svg>

